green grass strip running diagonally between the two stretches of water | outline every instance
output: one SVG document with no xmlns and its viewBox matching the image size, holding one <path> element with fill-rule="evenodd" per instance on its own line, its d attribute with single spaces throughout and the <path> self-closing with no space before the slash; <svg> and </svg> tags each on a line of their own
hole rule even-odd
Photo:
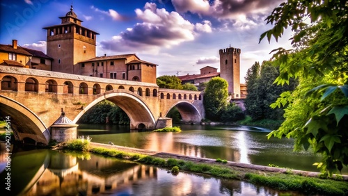
<svg viewBox="0 0 348 196">
<path fill-rule="evenodd" d="M 80 141 L 79 141 L 80 140 Z M 74 145 L 76 144 L 76 145 Z M 81 146 L 82 144 L 82 146 Z M 106 147 L 90 147 L 90 140 L 81 138 L 68 142 L 69 149 L 89 151 L 104 156 L 122 158 L 138 163 L 151 164 L 170 170 L 177 166 L 179 170 L 211 174 L 223 179 L 237 179 L 248 181 L 261 186 L 268 186 L 278 190 L 295 190 L 306 195 L 348 195 L 348 182 L 340 179 L 319 179 L 317 177 L 303 177 L 296 174 L 276 172 L 261 172 L 246 168 L 233 168 L 225 163 L 198 163 L 197 161 L 180 160 L 177 158 L 161 158 L 154 155 L 125 152 Z M 213 161 L 215 162 L 215 161 Z"/>
</svg>

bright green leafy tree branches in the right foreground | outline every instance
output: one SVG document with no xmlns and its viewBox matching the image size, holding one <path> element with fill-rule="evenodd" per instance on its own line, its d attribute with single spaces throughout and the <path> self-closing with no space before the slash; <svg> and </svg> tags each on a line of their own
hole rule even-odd
<svg viewBox="0 0 348 196">
<path fill-rule="evenodd" d="M 274 50 L 280 61 L 276 82 L 299 79 L 294 92 L 284 92 L 272 105 L 288 104 L 285 122 L 269 137 L 294 138 L 295 149 L 312 147 L 323 156 L 317 167 L 329 175 L 348 165 L 347 14 L 347 1 L 287 1 L 267 17 L 274 27 L 260 36 L 278 40 L 291 27 L 295 50 Z"/>
</svg>

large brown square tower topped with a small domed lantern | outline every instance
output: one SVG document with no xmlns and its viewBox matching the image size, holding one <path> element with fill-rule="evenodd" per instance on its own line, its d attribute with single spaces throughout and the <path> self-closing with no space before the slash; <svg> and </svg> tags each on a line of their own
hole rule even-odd
<svg viewBox="0 0 348 196">
<path fill-rule="evenodd" d="M 47 56 L 52 57 L 52 71 L 80 74 L 79 62 L 95 58 L 95 46 L 99 33 L 81 26 L 72 6 L 61 24 L 47 29 Z"/>
</svg>

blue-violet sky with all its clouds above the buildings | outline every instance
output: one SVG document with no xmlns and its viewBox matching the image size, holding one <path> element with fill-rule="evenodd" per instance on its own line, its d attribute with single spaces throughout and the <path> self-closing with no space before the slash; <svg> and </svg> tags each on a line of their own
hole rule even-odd
<svg viewBox="0 0 348 196">
<path fill-rule="evenodd" d="M 264 19 L 283 0 L 0 0 L 0 44 L 18 40 L 22 47 L 46 53 L 43 27 L 61 24 L 73 6 L 82 26 L 97 35 L 97 56 L 136 54 L 158 65 L 162 75 L 199 74 L 219 69 L 219 49 L 242 50 L 240 79 L 269 52 L 290 48 L 290 31 L 269 43 L 260 35 L 271 24 Z M 219 70 L 218 70 L 219 72 Z"/>
</svg>

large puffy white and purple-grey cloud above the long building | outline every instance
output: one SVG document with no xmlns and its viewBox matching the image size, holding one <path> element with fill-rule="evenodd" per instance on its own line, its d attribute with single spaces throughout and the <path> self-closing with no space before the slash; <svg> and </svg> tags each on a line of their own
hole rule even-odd
<svg viewBox="0 0 348 196">
<path fill-rule="evenodd" d="M 171 47 L 194 40 L 198 32 L 212 32 L 209 21 L 191 24 L 176 12 L 168 13 L 157 8 L 155 3 L 146 3 L 143 10 L 135 10 L 136 17 L 143 21 L 127 28 L 110 41 L 100 42 L 103 49 L 112 51 L 143 50 L 158 52 L 160 47 Z"/>
</svg>

